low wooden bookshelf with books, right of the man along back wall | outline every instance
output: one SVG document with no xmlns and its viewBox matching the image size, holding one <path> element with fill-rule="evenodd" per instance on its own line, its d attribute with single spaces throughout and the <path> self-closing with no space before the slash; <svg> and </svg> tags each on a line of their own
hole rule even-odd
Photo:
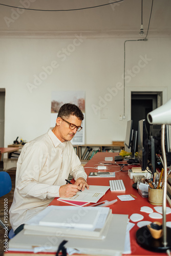
<svg viewBox="0 0 171 256">
<path fill-rule="evenodd" d="M 83 144 L 73 145 L 75 153 L 81 163 L 87 163 L 97 152 L 120 152 L 124 149 L 124 142 L 116 141 L 113 144 Z"/>
</svg>

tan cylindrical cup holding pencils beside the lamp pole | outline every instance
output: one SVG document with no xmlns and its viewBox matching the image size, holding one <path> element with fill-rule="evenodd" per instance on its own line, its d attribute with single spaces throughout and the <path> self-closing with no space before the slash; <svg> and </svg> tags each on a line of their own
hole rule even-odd
<svg viewBox="0 0 171 256">
<path fill-rule="evenodd" d="M 162 205 L 163 203 L 163 188 L 155 189 L 148 188 L 148 201 L 153 205 Z"/>
</svg>

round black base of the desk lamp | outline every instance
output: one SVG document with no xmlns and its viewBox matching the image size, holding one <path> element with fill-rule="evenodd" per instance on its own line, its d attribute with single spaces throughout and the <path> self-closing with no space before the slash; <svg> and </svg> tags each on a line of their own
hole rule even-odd
<svg viewBox="0 0 171 256">
<path fill-rule="evenodd" d="M 171 228 L 166 227 L 167 230 L 167 245 L 163 246 L 162 237 L 154 239 L 149 232 L 147 226 L 141 227 L 136 232 L 136 238 L 138 244 L 146 250 L 165 252 L 167 249 L 171 249 Z"/>
</svg>

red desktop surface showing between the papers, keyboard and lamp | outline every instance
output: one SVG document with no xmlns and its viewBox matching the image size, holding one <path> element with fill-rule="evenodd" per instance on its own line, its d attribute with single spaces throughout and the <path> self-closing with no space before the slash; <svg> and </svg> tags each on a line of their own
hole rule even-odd
<svg viewBox="0 0 171 256">
<path fill-rule="evenodd" d="M 89 175 L 90 172 L 96 172 L 97 169 L 92 169 L 90 167 L 94 167 L 94 165 L 98 164 L 100 161 L 104 161 L 104 157 L 105 156 L 115 156 L 118 155 L 117 153 L 97 153 L 85 166 L 85 171 L 86 173 Z M 126 163 L 126 161 L 124 161 L 123 163 Z M 110 166 L 110 165 L 108 165 Z M 87 182 L 89 185 L 103 185 L 103 186 L 109 186 L 109 180 L 111 179 L 121 179 L 123 180 L 123 183 L 125 185 L 126 191 L 121 191 L 121 192 L 116 192 L 116 191 L 110 191 L 110 189 L 106 192 L 106 194 L 98 201 L 104 201 L 104 200 L 108 200 L 108 201 L 112 201 L 114 199 L 117 199 L 118 201 L 111 205 L 110 208 L 112 209 L 112 213 L 113 214 L 126 214 L 129 215 L 129 218 L 132 214 L 141 214 L 143 215 L 144 219 L 142 221 L 159 221 L 162 222 L 162 219 L 152 219 L 149 218 L 147 213 L 140 211 L 142 206 L 148 206 L 151 207 L 152 209 L 154 209 L 154 205 L 150 204 L 148 202 L 148 198 L 142 198 L 139 193 L 138 190 L 133 188 L 133 180 L 130 179 L 130 177 L 127 174 L 127 170 L 131 169 L 132 167 L 135 167 L 137 165 L 131 165 L 131 166 L 124 166 L 122 168 L 121 172 L 118 172 L 118 170 L 120 170 L 120 167 L 111 167 L 110 170 L 106 170 L 106 172 L 116 172 L 116 177 L 115 178 L 88 178 Z M 104 170 L 102 170 L 102 172 L 104 172 Z M 135 200 L 133 201 L 120 201 L 117 196 L 118 195 L 132 195 Z M 69 205 L 69 204 L 65 204 L 63 202 L 59 202 L 56 198 L 51 202 L 50 205 Z M 90 205 L 92 205 L 90 203 Z M 87 205 L 89 206 L 89 205 Z M 167 206 L 169 206 L 167 204 Z M 156 210 L 154 209 L 154 212 L 156 212 Z M 166 221 L 171 221 L 171 214 L 168 214 L 166 216 Z M 132 222 L 132 221 L 130 221 Z M 130 240 L 131 240 L 131 250 L 132 250 L 132 254 L 131 255 L 166 255 L 166 253 L 156 253 L 156 252 L 151 252 L 148 250 L 143 249 L 142 247 L 140 247 L 137 242 L 136 242 L 136 231 L 138 230 L 138 226 L 137 226 L 137 222 L 134 222 L 135 226 L 131 229 L 130 231 Z M 121 224 L 122 225 L 122 224 Z M 116 230 L 114 230 L 114 232 L 116 232 Z M 129 254 L 130 255 L 130 254 Z"/>
</svg>

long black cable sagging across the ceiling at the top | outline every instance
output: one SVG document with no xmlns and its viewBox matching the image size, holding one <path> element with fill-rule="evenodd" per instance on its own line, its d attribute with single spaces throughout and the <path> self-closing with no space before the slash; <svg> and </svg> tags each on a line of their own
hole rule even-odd
<svg viewBox="0 0 171 256">
<path fill-rule="evenodd" d="M 97 7 L 102 7 L 102 6 L 106 6 L 106 5 L 112 5 L 112 4 L 116 4 L 119 2 L 122 2 L 124 0 L 118 0 L 112 3 L 108 3 L 108 4 L 104 4 L 104 5 L 97 5 L 97 6 L 92 6 L 92 7 L 84 7 L 84 8 L 78 8 L 78 9 L 66 9 L 66 10 L 41 10 L 41 9 L 31 9 L 31 8 L 24 8 L 24 7 L 16 7 L 16 6 L 10 6 L 10 5 L 5 5 L 5 4 L 0 4 L 2 6 L 6 6 L 6 7 L 12 7 L 12 8 L 16 8 L 16 9 L 22 9 L 22 10 L 30 10 L 30 11 L 42 11 L 42 12 L 63 12 L 63 11 L 80 11 L 80 10 L 86 10 L 86 9 L 92 9 L 92 8 L 97 8 Z"/>
</svg>

